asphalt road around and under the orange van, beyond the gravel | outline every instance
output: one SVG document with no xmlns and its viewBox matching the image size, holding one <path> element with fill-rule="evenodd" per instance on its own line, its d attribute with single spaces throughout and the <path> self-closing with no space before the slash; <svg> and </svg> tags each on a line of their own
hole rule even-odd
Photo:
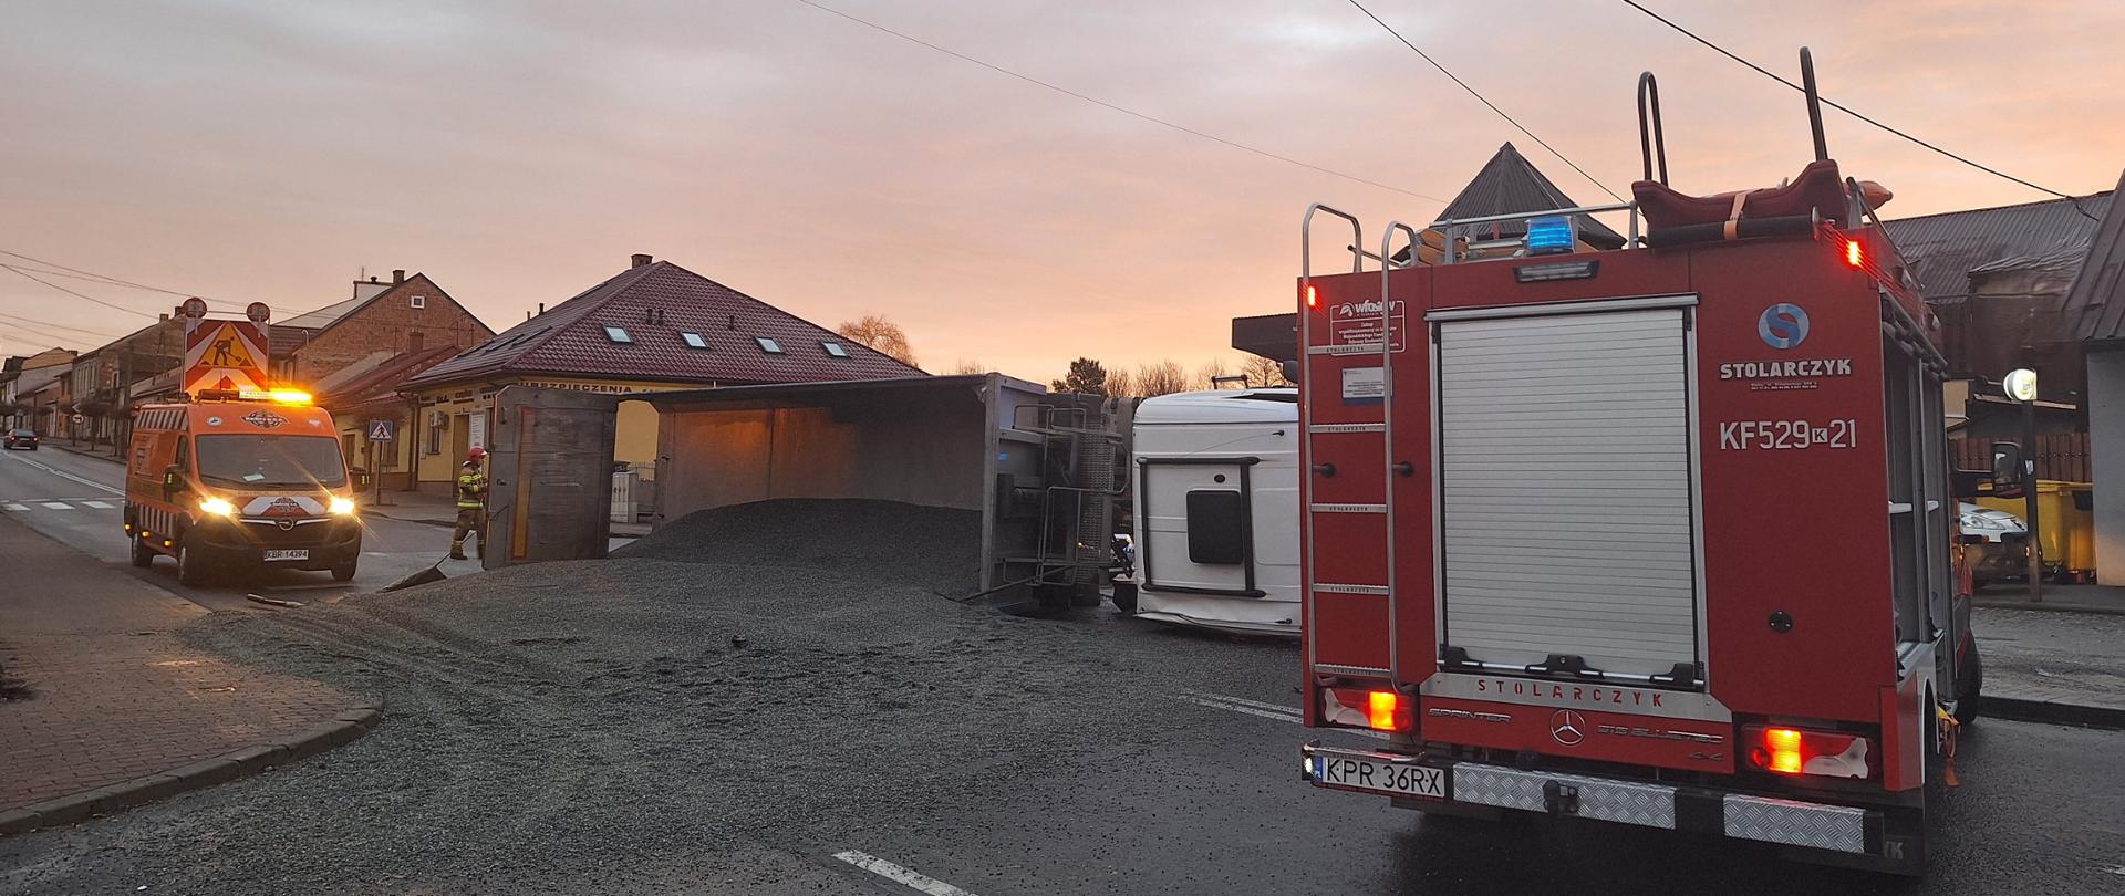
<svg viewBox="0 0 2125 896">
<path fill-rule="evenodd" d="M 0 450 L 0 514 L 60 539 L 98 561 L 168 588 L 206 609 L 268 609 L 246 592 L 285 601 L 323 601 L 336 595 L 376 590 L 436 563 L 450 548 L 444 529 L 363 516 L 361 565 L 353 582 L 332 582 L 332 573 L 270 569 L 257 578 L 223 580 L 208 588 L 176 584 L 176 561 L 155 558 L 149 569 L 132 569 L 125 541 L 125 476 L 115 461 L 57 448 Z M 472 571 L 476 563 L 446 563 L 444 571 Z"/>
</svg>

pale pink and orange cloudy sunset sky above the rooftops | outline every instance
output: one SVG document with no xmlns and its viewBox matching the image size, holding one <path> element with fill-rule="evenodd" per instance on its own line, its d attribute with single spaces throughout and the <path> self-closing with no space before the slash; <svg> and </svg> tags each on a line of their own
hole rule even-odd
<svg viewBox="0 0 2125 896">
<path fill-rule="evenodd" d="M 886 314 L 931 369 L 1046 382 L 1077 355 L 1237 359 L 1235 314 L 1290 308 L 1309 202 L 1430 221 L 1507 140 L 1606 200 L 1347 0 L 820 2 L 1424 197 L 795 0 L 6 0 L 0 251 L 280 318 L 408 268 L 495 329 L 652 253 L 829 327 Z M 1798 93 L 1621 2 L 1366 4 L 1617 193 L 1645 68 L 1674 187 L 1774 185 L 1810 157 Z M 2121 2 L 1647 4 L 1779 72 L 1810 45 L 1825 96 L 2040 185 L 2093 193 L 2125 166 Z M 1849 174 L 1898 193 L 1887 217 L 2044 197 L 1828 127 Z M 8 272 L 0 314 L 8 355 L 151 321 Z"/>
</svg>

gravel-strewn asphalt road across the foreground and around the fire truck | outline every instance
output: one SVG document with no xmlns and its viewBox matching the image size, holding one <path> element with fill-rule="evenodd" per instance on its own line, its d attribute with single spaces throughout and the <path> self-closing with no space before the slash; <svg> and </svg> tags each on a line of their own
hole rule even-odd
<svg viewBox="0 0 2125 896">
<path fill-rule="evenodd" d="M 899 592 L 863 605 L 810 573 L 786 582 L 829 597 L 771 611 L 754 595 L 733 616 L 759 573 L 612 563 L 633 567 L 208 618 L 217 650 L 380 692 L 385 724 L 264 777 L 0 841 L 0 892 L 2125 888 L 2119 733 L 1980 722 L 1936 815 L 1932 875 L 1885 879 L 1721 839 L 1430 820 L 1307 788 L 1286 643 Z"/>
</svg>

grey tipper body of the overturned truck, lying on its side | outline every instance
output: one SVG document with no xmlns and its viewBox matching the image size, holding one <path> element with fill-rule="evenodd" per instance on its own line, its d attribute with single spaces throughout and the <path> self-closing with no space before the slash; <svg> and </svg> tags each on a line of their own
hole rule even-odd
<svg viewBox="0 0 2125 896">
<path fill-rule="evenodd" d="M 657 410 L 652 539 L 691 514 L 767 501 L 803 514 L 899 503 L 967 512 L 952 599 L 1099 603 L 1126 484 L 1128 408 L 1001 374 L 727 386 L 627 397 Z M 510 386 L 493 435 L 487 567 L 606 556 L 623 397 Z M 846 512 L 820 522 L 876 522 Z M 801 535 L 793 535 L 797 539 Z M 788 544 L 786 550 L 805 550 Z M 774 561 L 774 556 L 763 556 Z M 852 556 L 861 563 L 861 556 Z M 944 582 L 944 580 L 939 580 Z M 939 586 L 939 590 L 946 590 Z"/>
</svg>

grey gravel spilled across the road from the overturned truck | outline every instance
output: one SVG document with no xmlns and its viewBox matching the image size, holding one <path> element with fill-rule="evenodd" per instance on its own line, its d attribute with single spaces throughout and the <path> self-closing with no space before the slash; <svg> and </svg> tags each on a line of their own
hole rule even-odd
<svg viewBox="0 0 2125 896">
<path fill-rule="evenodd" d="M 754 507 L 750 529 L 693 520 L 727 550 L 691 563 L 654 558 L 682 552 L 667 531 L 635 556 L 217 614 L 196 643 L 382 696 L 382 726 L 266 777 L 34 834 L 36 862 L 0 873 L 0 890 L 833 890 L 848 875 L 793 856 L 880 820 L 920 826 L 941 792 L 1007 794 L 1033 775 L 1096 788 L 1114 756 L 1088 745 L 1167 737 L 1130 720 L 1164 711 L 1171 679 L 1114 658 L 1111 626 L 937 597 L 948 535 L 922 518 L 952 520 L 933 516 L 903 514 L 839 567 L 776 550 L 799 533 Z M 733 554 L 763 565 L 703 563 Z M 0 843 L 0 866 L 26 843 Z"/>
</svg>

